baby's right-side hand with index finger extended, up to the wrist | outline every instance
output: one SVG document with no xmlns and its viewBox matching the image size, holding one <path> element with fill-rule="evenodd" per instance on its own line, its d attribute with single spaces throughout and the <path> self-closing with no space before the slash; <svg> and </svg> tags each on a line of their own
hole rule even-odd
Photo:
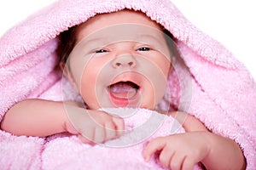
<svg viewBox="0 0 256 170">
<path fill-rule="evenodd" d="M 157 152 L 163 167 L 172 170 L 193 169 L 195 164 L 202 161 L 210 152 L 205 135 L 207 133 L 180 133 L 153 139 L 144 150 L 144 158 L 148 161 Z"/>
</svg>

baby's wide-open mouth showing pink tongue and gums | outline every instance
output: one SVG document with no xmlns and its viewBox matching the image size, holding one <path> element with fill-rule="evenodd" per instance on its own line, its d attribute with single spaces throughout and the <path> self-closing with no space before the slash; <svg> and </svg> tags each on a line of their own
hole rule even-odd
<svg viewBox="0 0 256 170">
<path fill-rule="evenodd" d="M 117 82 L 109 87 L 109 92 L 118 99 L 131 99 L 137 94 L 137 85 L 133 82 Z"/>
</svg>

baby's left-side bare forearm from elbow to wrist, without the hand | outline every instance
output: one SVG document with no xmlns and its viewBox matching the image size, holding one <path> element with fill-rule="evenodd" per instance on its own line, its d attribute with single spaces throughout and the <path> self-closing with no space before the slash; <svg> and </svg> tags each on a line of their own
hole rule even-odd
<svg viewBox="0 0 256 170">
<path fill-rule="evenodd" d="M 9 109 L 1 128 L 18 136 L 45 137 L 65 132 L 65 121 L 61 102 L 26 99 Z"/>
</svg>

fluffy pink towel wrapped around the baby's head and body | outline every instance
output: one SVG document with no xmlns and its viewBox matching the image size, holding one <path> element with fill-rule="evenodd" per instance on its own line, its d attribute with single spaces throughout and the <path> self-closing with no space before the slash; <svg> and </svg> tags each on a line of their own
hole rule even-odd
<svg viewBox="0 0 256 170">
<path fill-rule="evenodd" d="M 9 30 L 0 40 L 0 121 L 5 112 L 22 99 L 62 99 L 61 73 L 55 69 L 56 37 L 95 14 L 123 8 L 141 10 L 165 26 L 180 49 L 183 60 L 175 65 L 169 93 L 159 107 L 171 102 L 179 110 L 199 118 L 213 133 L 236 140 L 246 156 L 247 169 L 255 169 L 256 86 L 253 78 L 233 54 L 193 26 L 169 0 L 61 0 Z M 160 133 L 170 133 L 166 129 L 170 129 L 172 123 L 170 127 L 165 126 Z M 110 155 L 107 149 L 106 153 L 102 151 L 102 146 L 88 148 L 74 136 L 62 134 L 40 139 L 15 137 L 0 131 L 0 143 L 0 169 L 79 168 L 88 161 L 84 150 L 91 150 L 89 153 L 95 156 L 109 156 L 105 162 L 110 169 L 113 159 L 121 157 L 119 152 Z M 131 150 L 133 147 L 141 150 L 143 146 L 137 144 Z M 125 149 L 118 150 L 120 154 L 129 155 Z M 145 164 L 137 154 L 133 153 L 134 157 L 127 161 L 119 160 L 122 162 L 119 165 L 160 168 L 157 162 Z M 104 161 L 95 158 L 94 164 L 100 164 L 97 162 Z"/>
</svg>

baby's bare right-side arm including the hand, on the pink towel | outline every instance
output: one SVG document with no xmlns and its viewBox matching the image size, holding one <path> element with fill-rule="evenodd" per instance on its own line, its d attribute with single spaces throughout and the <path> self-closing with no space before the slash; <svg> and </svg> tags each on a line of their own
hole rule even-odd
<svg viewBox="0 0 256 170">
<path fill-rule="evenodd" d="M 174 117 L 187 133 L 153 139 L 144 150 L 146 160 L 160 151 L 160 162 L 172 170 L 192 169 L 200 161 L 207 169 L 245 168 L 244 156 L 235 141 L 208 132 L 194 116 L 186 114 L 184 119 L 184 114 L 178 112 Z"/>
</svg>

